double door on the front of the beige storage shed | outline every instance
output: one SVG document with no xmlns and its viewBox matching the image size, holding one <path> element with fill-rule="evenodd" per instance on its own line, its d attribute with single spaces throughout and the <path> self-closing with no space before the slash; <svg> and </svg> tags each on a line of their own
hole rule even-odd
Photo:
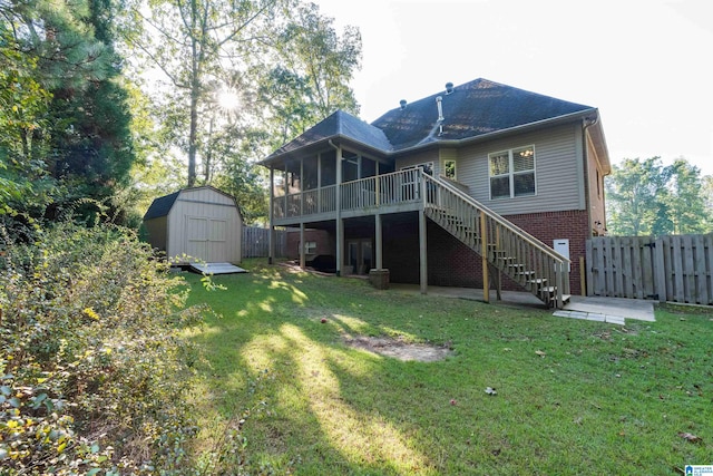
<svg viewBox="0 0 713 476">
<path fill-rule="evenodd" d="M 186 254 L 206 263 L 227 261 L 227 221 L 186 216 Z"/>
</svg>

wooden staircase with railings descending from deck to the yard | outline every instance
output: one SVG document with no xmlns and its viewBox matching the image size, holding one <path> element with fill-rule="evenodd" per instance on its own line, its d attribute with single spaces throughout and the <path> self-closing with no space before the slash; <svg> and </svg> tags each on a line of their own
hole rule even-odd
<svg viewBox="0 0 713 476">
<path fill-rule="evenodd" d="M 488 263 L 499 294 L 501 273 L 547 307 L 569 301 L 569 260 L 448 184 L 422 174 L 423 212 Z"/>
</svg>

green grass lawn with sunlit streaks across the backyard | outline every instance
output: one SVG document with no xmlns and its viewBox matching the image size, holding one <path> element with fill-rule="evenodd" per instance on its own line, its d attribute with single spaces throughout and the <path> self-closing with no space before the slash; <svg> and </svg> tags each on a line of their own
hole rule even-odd
<svg viewBox="0 0 713 476">
<path fill-rule="evenodd" d="M 192 303 L 222 314 L 193 334 L 205 357 L 202 449 L 240 430 L 251 474 L 675 475 L 713 464 L 712 312 L 662 308 L 654 323 L 621 327 L 244 266 L 214 279 L 225 291 L 188 280 Z M 453 354 L 400 361 L 348 336 Z"/>
</svg>

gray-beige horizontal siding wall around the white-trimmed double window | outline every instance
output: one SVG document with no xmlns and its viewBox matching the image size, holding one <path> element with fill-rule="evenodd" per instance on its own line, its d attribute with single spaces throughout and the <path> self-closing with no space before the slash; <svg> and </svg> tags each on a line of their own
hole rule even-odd
<svg viewBox="0 0 713 476">
<path fill-rule="evenodd" d="M 490 200 L 488 154 L 535 146 L 536 194 Z M 501 215 L 584 210 L 582 129 L 578 124 L 477 144 L 459 150 L 458 182 L 468 194 Z"/>
</svg>

